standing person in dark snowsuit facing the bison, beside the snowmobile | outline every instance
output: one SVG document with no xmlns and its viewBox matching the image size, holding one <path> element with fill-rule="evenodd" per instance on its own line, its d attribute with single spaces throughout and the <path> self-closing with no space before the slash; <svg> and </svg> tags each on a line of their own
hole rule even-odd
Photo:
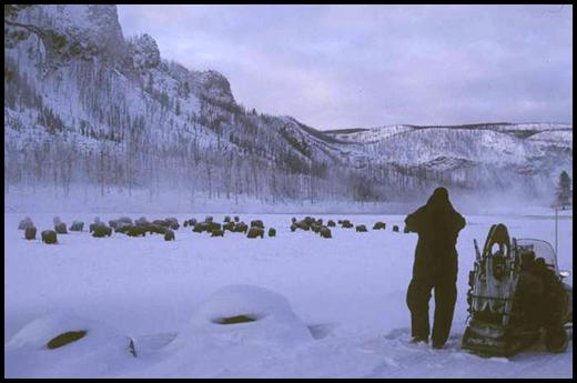
<svg viewBox="0 0 577 383">
<path fill-rule="evenodd" d="M 445 188 L 437 188 L 424 206 L 405 219 L 406 229 L 418 234 L 408 285 L 413 342 L 428 342 L 428 302 L 435 290 L 433 347 L 441 349 L 448 339 L 457 299 L 457 250 L 459 231 L 465 219 L 451 204 Z"/>
</svg>

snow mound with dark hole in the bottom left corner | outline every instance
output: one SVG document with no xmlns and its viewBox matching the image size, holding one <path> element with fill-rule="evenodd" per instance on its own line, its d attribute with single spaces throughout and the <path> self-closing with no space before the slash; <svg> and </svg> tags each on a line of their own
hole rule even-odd
<svg viewBox="0 0 577 383">
<path fill-rule="evenodd" d="M 70 331 L 85 331 L 77 341 L 57 349 L 48 343 Z M 109 325 L 52 313 L 41 316 L 4 344 L 6 377 L 100 376 L 134 359 L 131 339 Z"/>
</svg>

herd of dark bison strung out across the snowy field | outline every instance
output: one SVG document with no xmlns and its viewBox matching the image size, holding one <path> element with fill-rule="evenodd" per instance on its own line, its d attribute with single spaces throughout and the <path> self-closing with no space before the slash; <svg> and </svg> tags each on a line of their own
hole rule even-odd
<svg viewBox="0 0 577 383">
<path fill-rule="evenodd" d="M 81 221 L 73 221 L 70 228 L 67 229 L 67 224 L 60 220 L 60 216 L 54 216 L 53 224 L 53 230 L 43 230 L 41 232 L 41 239 L 44 243 L 57 243 L 58 234 L 68 234 L 69 231 L 84 231 L 84 222 Z M 336 228 L 337 224 L 341 225 L 342 229 L 355 228 L 356 232 L 368 231 L 366 225 L 354 225 L 350 220 L 338 220 L 337 223 L 335 223 L 333 220 L 327 220 L 325 223 L 323 219 L 315 219 L 314 216 L 305 216 L 300 221 L 296 220 L 296 218 L 293 218 L 290 228 L 292 232 L 295 232 L 296 230 L 312 231 L 321 238 L 330 239 L 332 238 L 330 228 Z M 224 236 L 226 232 L 230 232 L 245 234 L 249 239 L 264 239 L 265 229 L 267 229 L 266 233 L 270 238 L 276 236 L 276 229 L 265 228 L 262 220 L 253 220 L 250 221 L 250 224 L 247 224 L 241 221 L 237 215 L 234 218 L 226 215 L 224 216 L 222 223 L 215 222 L 211 215 L 205 216 L 204 221 L 199 221 L 192 218 L 184 220 L 182 226 L 191 228 L 193 233 L 207 233 L 212 238 Z M 165 241 L 174 241 L 174 232 L 180 228 L 181 224 L 179 223 L 179 220 L 173 216 L 166 218 L 164 220 L 153 220 L 152 222 L 146 220 L 144 216 L 141 216 L 134 221 L 129 216 L 121 216 L 115 220 L 110 220 L 108 224 L 102 222 L 100 218 L 97 216 L 94 222 L 89 225 L 89 232 L 93 238 L 111 236 L 113 231 L 114 233 L 121 233 L 128 236 L 146 236 L 146 234 L 160 234 L 164 236 Z M 373 230 L 385 230 L 385 222 L 376 222 L 373 225 Z M 27 240 L 36 240 L 37 228 L 34 226 L 30 216 L 27 216 L 20 221 L 18 229 L 24 231 L 24 238 Z M 393 225 L 393 231 L 398 232 L 398 226 Z M 408 230 L 405 228 L 403 232 L 408 233 Z"/>
</svg>

